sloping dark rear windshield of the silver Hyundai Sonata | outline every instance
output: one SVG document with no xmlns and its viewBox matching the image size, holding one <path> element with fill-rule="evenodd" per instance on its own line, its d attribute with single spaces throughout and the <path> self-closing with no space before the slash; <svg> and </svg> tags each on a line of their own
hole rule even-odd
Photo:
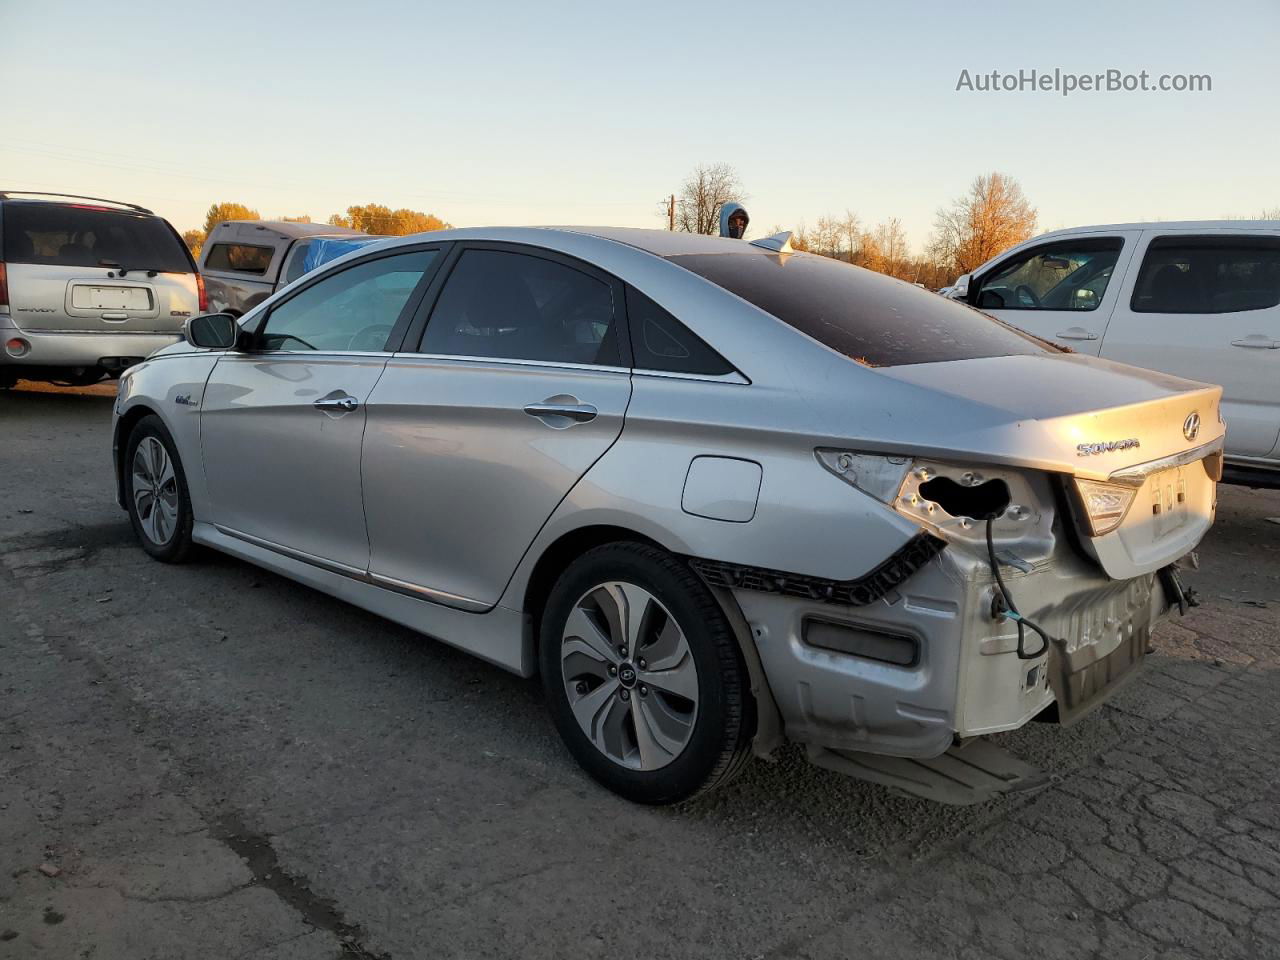
<svg viewBox="0 0 1280 960">
<path fill-rule="evenodd" d="M 829 257 L 760 251 L 669 260 L 869 366 L 1059 352 L 937 293 Z"/>
</svg>

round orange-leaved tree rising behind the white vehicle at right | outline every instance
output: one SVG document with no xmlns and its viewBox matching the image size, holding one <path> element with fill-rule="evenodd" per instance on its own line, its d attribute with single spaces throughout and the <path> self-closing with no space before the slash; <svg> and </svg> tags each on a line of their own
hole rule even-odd
<svg viewBox="0 0 1280 960">
<path fill-rule="evenodd" d="M 1036 207 L 1012 177 L 975 177 L 969 192 L 938 210 L 931 256 L 965 274 L 1036 232 Z"/>
</svg>

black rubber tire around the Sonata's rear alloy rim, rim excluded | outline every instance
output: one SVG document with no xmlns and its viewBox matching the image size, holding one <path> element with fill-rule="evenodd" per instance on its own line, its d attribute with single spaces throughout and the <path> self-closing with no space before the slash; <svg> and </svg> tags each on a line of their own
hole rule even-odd
<svg viewBox="0 0 1280 960">
<path fill-rule="evenodd" d="M 566 689 L 561 659 L 566 623 L 579 600 L 608 581 L 652 594 L 684 632 L 696 668 L 692 732 L 659 769 L 628 768 L 598 749 L 575 718 Z M 640 543 L 588 550 L 552 589 L 539 632 L 543 687 L 556 727 L 582 769 L 613 792 L 641 804 L 690 800 L 727 783 L 750 758 L 755 701 L 746 664 L 716 598 L 677 557 Z"/>
</svg>

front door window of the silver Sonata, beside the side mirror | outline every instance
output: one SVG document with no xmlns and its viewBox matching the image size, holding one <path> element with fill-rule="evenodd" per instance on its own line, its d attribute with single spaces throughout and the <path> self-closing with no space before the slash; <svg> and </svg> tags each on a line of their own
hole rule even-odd
<svg viewBox="0 0 1280 960">
<path fill-rule="evenodd" d="M 435 256 L 419 250 L 339 270 L 274 307 L 264 349 L 380 351 Z"/>
</svg>

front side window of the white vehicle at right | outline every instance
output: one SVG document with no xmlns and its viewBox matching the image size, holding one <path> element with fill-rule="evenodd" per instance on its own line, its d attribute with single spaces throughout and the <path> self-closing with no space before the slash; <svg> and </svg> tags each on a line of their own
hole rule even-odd
<svg viewBox="0 0 1280 960">
<path fill-rule="evenodd" d="M 982 310 L 1097 310 L 1124 241 L 1070 241 L 1020 253 L 982 279 Z"/>
</svg>

